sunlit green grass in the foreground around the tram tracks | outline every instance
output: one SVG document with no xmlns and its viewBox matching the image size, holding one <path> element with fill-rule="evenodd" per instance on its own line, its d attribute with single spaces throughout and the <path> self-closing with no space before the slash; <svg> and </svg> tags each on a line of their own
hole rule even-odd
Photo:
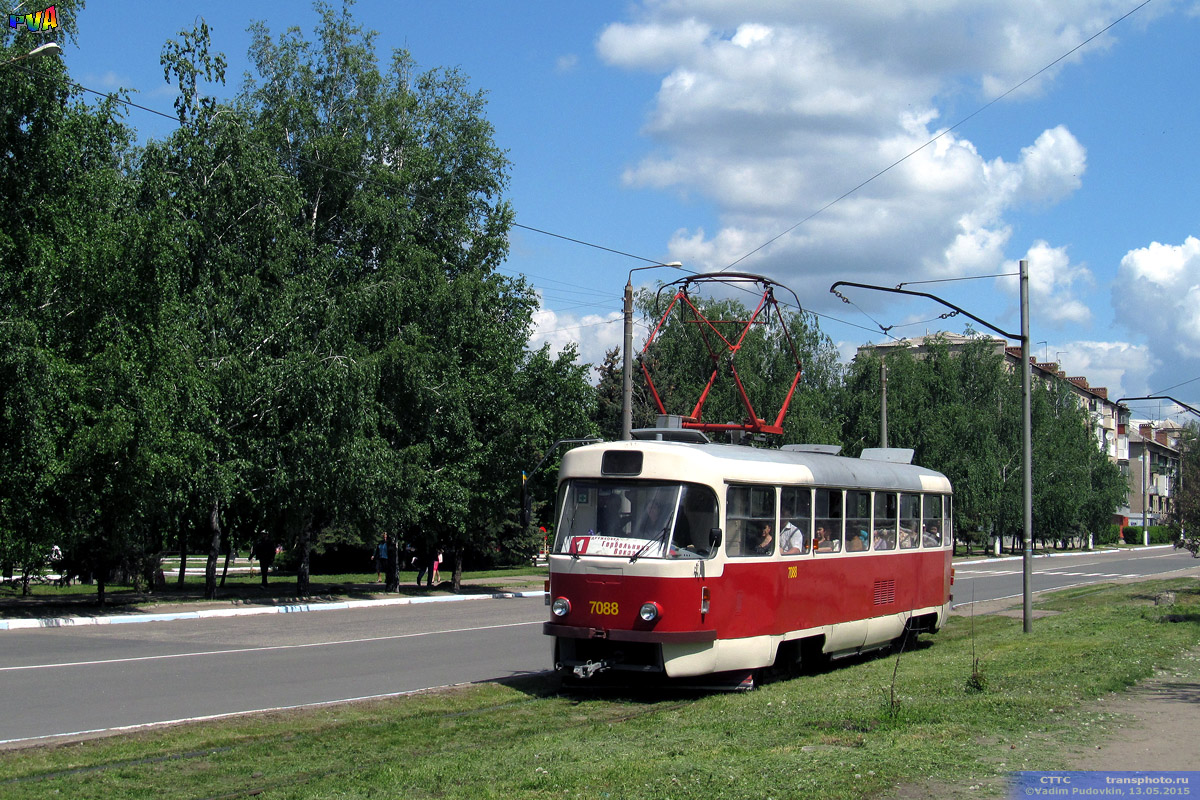
<svg viewBox="0 0 1200 800">
<path fill-rule="evenodd" d="M 1154 607 L 1165 589 L 1177 604 Z M 758 800 L 914 782 L 1002 796 L 1007 772 L 1069 768 L 1067 750 L 1111 728 L 1088 700 L 1157 668 L 1200 678 L 1195 581 L 1039 606 L 1061 613 L 1032 634 L 1012 618 L 955 618 L 899 661 L 746 694 L 565 694 L 530 678 L 6 752 L 0 796 Z M 967 688 L 972 652 L 983 691 Z"/>
</svg>

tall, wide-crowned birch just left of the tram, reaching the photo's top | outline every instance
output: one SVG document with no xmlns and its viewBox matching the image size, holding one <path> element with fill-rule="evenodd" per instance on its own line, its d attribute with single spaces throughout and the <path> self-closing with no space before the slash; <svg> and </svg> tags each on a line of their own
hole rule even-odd
<svg viewBox="0 0 1200 800">
<path fill-rule="evenodd" d="M 252 29 L 257 74 L 239 98 L 298 187 L 304 235 L 280 285 L 292 323 L 263 373 L 287 386 L 262 445 L 265 493 L 301 591 L 312 547 L 350 529 L 440 546 L 457 582 L 481 531 L 504 529 L 492 500 L 515 501 L 538 435 L 514 411 L 542 366 L 524 350 L 535 297 L 496 271 L 508 161 L 461 73 L 418 73 L 404 52 L 380 68 L 348 4 L 317 8 L 314 42 Z M 583 383 L 564 371 L 545 374 Z"/>
</svg>

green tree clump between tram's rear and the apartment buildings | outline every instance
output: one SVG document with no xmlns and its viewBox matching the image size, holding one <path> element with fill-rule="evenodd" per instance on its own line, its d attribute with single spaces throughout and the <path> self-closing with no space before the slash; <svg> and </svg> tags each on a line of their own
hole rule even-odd
<svg viewBox="0 0 1200 800">
<path fill-rule="evenodd" d="M 1020 378 L 986 338 L 860 354 L 846 379 L 844 438 L 878 446 L 881 367 L 887 366 L 888 444 L 954 486 L 956 535 L 971 542 L 1022 536 Z M 1036 381 L 1032 396 L 1033 530 L 1044 543 L 1108 523 L 1124 498 L 1120 470 L 1099 450 L 1087 411 L 1064 381 Z M 965 443 L 970 443 L 966 445 Z"/>
</svg>

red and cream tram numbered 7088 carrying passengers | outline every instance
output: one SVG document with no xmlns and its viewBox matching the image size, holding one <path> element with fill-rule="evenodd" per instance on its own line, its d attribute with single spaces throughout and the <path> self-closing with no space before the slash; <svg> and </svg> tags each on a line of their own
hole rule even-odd
<svg viewBox="0 0 1200 800">
<path fill-rule="evenodd" d="M 950 483 L 912 451 L 635 433 L 563 457 L 544 632 L 565 675 L 737 682 L 941 627 Z"/>
</svg>

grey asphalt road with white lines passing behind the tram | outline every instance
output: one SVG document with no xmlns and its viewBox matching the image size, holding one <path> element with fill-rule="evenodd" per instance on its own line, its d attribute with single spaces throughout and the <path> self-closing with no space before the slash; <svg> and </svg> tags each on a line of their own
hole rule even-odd
<svg viewBox="0 0 1200 800">
<path fill-rule="evenodd" d="M 1034 559 L 1034 591 L 1195 570 L 1170 548 Z M 1021 596 L 1021 561 L 956 566 L 954 604 Z M 0 632 L 0 746 L 412 692 L 550 667 L 540 597 Z"/>
</svg>

